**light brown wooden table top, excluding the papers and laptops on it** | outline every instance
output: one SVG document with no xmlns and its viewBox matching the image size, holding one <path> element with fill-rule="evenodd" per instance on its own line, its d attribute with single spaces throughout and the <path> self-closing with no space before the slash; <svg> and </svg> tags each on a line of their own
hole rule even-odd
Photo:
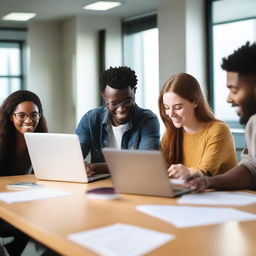
<svg viewBox="0 0 256 256">
<path fill-rule="evenodd" d="M 6 185 L 18 181 L 34 181 L 46 188 L 72 192 L 72 195 L 65 197 L 30 202 L 8 204 L 0 201 L 1 218 L 62 255 L 97 255 L 70 241 L 67 236 L 114 223 L 137 225 L 176 236 L 173 241 L 150 252 L 149 255 L 256 255 L 256 221 L 233 221 L 178 229 L 135 210 L 135 206 L 140 204 L 176 205 L 176 199 L 138 195 L 122 195 L 118 200 L 87 198 L 87 189 L 112 186 L 110 179 L 79 184 L 36 181 L 33 175 L 2 177 L 0 191 L 11 191 Z M 235 208 L 256 214 L 256 204 Z"/>
</svg>

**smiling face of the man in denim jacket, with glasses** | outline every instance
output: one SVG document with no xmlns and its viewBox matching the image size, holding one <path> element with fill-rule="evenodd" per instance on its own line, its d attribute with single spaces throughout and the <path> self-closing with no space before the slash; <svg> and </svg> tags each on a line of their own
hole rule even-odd
<svg viewBox="0 0 256 256">
<path fill-rule="evenodd" d="M 107 103 L 114 126 L 125 124 L 131 118 L 135 106 L 135 88 L 114 89 L 106 86 L 103 97 Z"/>
</svg>

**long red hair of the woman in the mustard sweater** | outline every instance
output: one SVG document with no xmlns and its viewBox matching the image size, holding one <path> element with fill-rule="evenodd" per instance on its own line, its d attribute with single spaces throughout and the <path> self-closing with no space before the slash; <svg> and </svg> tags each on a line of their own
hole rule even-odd
<svg viewBox="0 0 256 256">
<path fill-rule="evenodd" d="M 197 103 L 195 116 L 200 122 L 210 122 L 217 120 L 203 96 L 198 81 L 191 75 L 180 73 L 172 76 L 163 86 L 158 98 L 158 106 L 161 119 L 166 127 L 166 131 L 161 140 L 161 150 L 169 165 L 182 163 L 182 128 L 176 128 L 172 120 L 166 115 L 163 104 L 163 95 L 173 92 L 179 97 L 190 102 Z"/>
</svg>

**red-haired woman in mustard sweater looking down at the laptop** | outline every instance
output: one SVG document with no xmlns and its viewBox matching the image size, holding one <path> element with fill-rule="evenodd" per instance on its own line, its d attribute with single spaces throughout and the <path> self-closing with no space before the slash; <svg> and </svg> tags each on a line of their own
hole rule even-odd
<svg viewBox="0 0 256 256">
<path fill-rule="evenodd" d="M 237 164 L 229 128 L 213 116 L 193 76 L 181 73 L 171 77 L 158 104 L 166 127 L 161 150 L 171 178 L 217 175 Z"/>
</svg>

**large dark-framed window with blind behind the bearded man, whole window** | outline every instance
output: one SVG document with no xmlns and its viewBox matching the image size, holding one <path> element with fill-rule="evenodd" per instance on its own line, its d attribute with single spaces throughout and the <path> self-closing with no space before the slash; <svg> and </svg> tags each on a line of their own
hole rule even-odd
<svg viewBox="0 0 256 256">
<path fill-rule="evenodd" d="M 221 69 L 221 62 L 247 41 L 256 41 L 256 1 L 212 0 L 208 8 L 210 102 L 215 116 L 230 126 L 239 159 L 245 146 L 244 129 L 234 108 L 226 102 L 226 72 Z"/>
</svg>

